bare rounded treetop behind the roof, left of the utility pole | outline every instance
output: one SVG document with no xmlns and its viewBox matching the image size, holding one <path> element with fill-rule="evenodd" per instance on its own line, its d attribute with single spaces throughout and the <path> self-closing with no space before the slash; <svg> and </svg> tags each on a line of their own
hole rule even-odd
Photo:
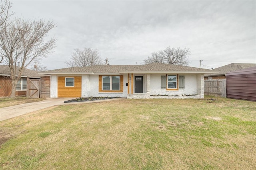
<svg viewBox="0 0 256 170">
<path fill-rule="evenodd" d="M 98 49 L 84 48 L 83 50 L 74 49 L 71 60 L 65 62 L 67 66 L 84 67 L 104 64 Z"/>
</svg>

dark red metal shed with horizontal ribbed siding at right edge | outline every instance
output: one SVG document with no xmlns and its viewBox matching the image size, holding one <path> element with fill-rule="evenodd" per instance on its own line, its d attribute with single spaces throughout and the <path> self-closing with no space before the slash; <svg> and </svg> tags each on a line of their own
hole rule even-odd
<svg viewBox="0 0 256 170">
<path fill-rule="evenodd" d="M 256 67 L 226 74 L 227 98 L 256 101 Z"/>
</svg>

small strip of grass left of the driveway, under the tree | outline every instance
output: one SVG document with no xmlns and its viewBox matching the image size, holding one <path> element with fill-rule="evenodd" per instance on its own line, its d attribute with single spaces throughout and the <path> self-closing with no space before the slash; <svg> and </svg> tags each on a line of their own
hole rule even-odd
<svg viewBox="0 0 256 170">
<path fill-rule="evenodd" d="M 16 98 L 0 98 L 0 108 L 14 106 L 25 103 L 39 102 L 45 100 L 44 98 L 26 98 L 26 97 L 16 97 Z"/>
</svg>

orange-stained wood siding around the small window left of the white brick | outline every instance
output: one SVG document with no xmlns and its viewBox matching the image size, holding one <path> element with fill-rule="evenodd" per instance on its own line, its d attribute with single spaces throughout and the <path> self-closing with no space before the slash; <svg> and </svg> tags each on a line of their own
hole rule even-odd
<svg viewBox="0 0 256 170">
<path fill-rule="evenodd" d="M 65 87 L 65 78 L 67 77 L 58 77 L 58 98 L 81 97 L 82 77 L 69 76 L 74 78 L 74 87 Z"/>
</svg>

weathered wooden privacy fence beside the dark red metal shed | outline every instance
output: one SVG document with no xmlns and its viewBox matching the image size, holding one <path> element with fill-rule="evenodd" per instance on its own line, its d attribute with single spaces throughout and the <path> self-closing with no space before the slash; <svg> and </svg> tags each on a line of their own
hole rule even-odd
<svg viewBox="0 0 256 170">
<path fill-rule="evenodd" d="M 204 80 L 204 95 L 226 98 L 226 79 Z"/>
</svg>

